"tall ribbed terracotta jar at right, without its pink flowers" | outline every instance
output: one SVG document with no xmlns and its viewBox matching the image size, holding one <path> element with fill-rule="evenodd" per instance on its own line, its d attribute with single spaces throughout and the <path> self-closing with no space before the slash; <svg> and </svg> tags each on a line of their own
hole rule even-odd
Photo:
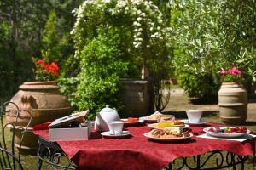
<svg viewBox="0 0 256 170">
<path fill-rule="evenodd" d="M 223 82 L 218 91 L 219 116 L 226 124 L 241 124 L 247 119 L 247 90 L 240 83 Z"/>
</svg>

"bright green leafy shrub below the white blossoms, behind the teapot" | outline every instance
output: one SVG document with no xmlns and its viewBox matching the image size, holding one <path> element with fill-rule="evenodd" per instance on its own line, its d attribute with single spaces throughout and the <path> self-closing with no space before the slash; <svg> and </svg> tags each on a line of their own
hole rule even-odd
<svg viewBox="0 0 256 170">
<path fill-rule="evenodd" d="M 107 104 L 116 109 L 122 106 L 118 96 L 119 77 L 125 77 L 128 63 L 122 59 L 120 46 L 116 30 L 104 29 L 81 53 L 76 99 L 79 110 L 90 108 L 89 118 Z"/>
</svg>

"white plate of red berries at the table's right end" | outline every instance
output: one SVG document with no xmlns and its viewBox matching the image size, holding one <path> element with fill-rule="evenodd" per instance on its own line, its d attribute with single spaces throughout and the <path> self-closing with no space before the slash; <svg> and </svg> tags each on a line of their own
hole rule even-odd
<svg viewBox="0 0 256 170">
<path fill-rule="evenodd" d="M 247 127 L 206 127 L 203 131 L 218 138 L 240 138 L 250 133 Z"/>
</svg>

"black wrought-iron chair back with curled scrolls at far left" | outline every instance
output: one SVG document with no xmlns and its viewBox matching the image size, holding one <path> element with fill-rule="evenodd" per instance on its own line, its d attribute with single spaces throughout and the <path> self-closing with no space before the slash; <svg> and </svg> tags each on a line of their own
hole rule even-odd
<svg viewBox="0 0 256 170">
<path fill-rule="evenodd" d="M 9 109 L 12 108 L 12 109 Z M 14 116 L 12 121 L 6 121 L 6 113 L 10 113 Z M 0 169 L 3 170 L 15 170 L 23 169 L 20 162 L 20 150 L 23 143 L 24 135 L 26 135 L 27 128 L 32 122 L 32 114 L 26 110 L 20 110 L 18 105 L 13 102 L 6 102 L 3 104 L 0 113 L 0 124 L 1 124 L 1 138 L 0 138 Z M 26 122 L 22 122 L 20 126 L 20 121 L 24 120 L 22 115 L 26 115 Z M 15 147 L 15 138 L 17 131 L 20 131 L 20 144 Z"/>
</svg>

